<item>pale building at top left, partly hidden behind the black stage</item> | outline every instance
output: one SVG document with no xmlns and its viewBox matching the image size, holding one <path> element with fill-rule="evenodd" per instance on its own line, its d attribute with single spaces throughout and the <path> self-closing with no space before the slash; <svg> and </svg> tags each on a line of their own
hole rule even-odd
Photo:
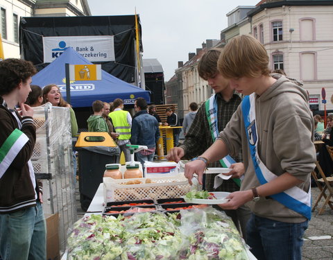
<svg viewBox="0 0 333 260">
<path fill-rule="evenodd" d="M 21 17 L 91 15 L 87 0 L 0 0 L 0 33 L 5 58 L 20 58 Z"/>
</svg>

